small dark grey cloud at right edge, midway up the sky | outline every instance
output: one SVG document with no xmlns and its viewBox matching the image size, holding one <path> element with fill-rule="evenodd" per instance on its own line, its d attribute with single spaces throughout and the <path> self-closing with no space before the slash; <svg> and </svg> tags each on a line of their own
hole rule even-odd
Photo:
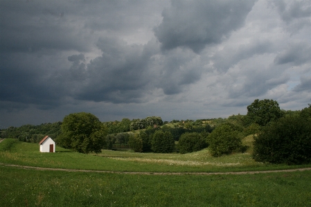
<svg viewBox="0 0 311 207">
<path fill-rule="evenodd" d="M 276 55 L 275 64 L 292 63 L 296 66 L 310 62 L 311 46 L 308 42 L 290 44 L 284 51 Z"/>
</svg>

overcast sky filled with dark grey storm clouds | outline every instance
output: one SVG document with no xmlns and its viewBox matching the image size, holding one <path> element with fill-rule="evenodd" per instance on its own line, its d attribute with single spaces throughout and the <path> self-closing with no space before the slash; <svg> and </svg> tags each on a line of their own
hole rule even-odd
<svg viewBox="0 0 311 207">
<path fill-rule="evenodd" d="M 311 1 L 0 0 L 0 128 L 311 103 Z"/>
</svg>

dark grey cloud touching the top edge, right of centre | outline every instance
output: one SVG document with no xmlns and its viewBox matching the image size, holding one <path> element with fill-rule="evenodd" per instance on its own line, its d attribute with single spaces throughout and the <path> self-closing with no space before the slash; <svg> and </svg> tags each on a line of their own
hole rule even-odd
<svg viewBox="0 0 311 207">
<path fill-rule="evenodd" d="M 163 49 L 185 46 L 199 53 L 243 26 L 255 1 L 172 1 L 154 33 Z"/>
</svg>

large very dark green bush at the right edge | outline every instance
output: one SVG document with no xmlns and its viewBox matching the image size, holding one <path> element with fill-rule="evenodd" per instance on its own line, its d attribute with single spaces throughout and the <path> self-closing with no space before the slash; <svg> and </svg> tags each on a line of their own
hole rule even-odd
<svg viewBox="0 0 311 207">
<path fill-rule="evenodd" d="M 254 137 L 253 157 L 269 163 L 311 163 L 311 122 L 302 116 L 285 117 Z"/>
</svg>

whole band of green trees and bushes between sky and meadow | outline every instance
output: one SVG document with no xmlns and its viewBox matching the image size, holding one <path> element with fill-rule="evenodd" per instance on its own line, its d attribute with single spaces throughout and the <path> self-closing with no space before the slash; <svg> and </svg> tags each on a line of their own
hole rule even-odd
<svg viewBox="0 0 311 207">
<path fill-rule="evenodd" d="M 148 116 L 101 123 L 93 114 L 80 112 L 65 116 L 62 122 L 0 131 L 1 138 L 32 143 L 39 143 L 46 135 L 57 145 L 81 153 L 131 149 L 184 154 L 208 147 L 213 156 L 245 152 L 247 146 L 242 145 L 242 138 L 254 135 L 256 161 L 311 163 L 311 105 L 285 111 L 274 100 L 254 100 L 247 107 L 247 115 L 170 122 Z"/>
</svg>

